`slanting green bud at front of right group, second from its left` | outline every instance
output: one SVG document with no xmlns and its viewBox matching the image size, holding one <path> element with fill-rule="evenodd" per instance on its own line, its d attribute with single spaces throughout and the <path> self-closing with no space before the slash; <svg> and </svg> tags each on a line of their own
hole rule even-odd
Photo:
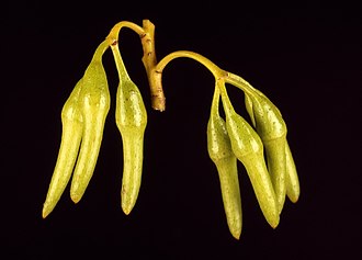
<svg viewBox="0 0 362 260">
<path fill-rule="evenodd" d="M 222 88 L 225 89 L 225 86 Z M 248 172 L 267 222 L 275 228 L 279 224 L 279 207 L 265 166 L 262 142 L 254 129 L 235 112 L 226 90 L 222 92 L 222 99 L 233 151 Z"/>
</svg>

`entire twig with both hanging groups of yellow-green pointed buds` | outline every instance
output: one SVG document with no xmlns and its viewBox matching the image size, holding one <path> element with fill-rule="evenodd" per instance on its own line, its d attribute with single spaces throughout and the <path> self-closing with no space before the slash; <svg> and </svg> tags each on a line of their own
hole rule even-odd
<svg viewBox="0 0 362 260">
<path fill-rule="evenodd" d="M 207 123 L 207 150 L 219 177 L 226 219 L 231 235 L 241 234 L 241 197 L 237 161 L 250 179 L 267 222 L 275 228 L 285 196 L 296 202 L 299 182 L 286 140 L 286 125 L 278 108 L 241 77 L 218 68 L 204 56 L 179 50 L 156 59 L 154 31 L 148 20 L 140 27 L 120 22 L 97 48 L 83 77 L 78 81 L 61 111 L 63 135 L 57 162 L 43 206 L 45 218 L 56 206 L 72 173 L 70 197 L 78 203 L 92 178 L 110 110 L 110 91 L 102 65 L 104 52 L 111 47 L 118 71 L 115 122 L 123 142 L 123 178 L 121 201 L 125 214 L 136 204 L 142 183 L 144 136 L 147 112 L 137 86 L 129 78 L 118 48 L 122 27 L 136 32 L 144 49 L 143 63 L 148 76 L 152 108 L 165 110 L 162 70 L 174 58 L 186 57 L 203 64 L 215 77 L 215 90 Z M 245 93 L 245 105 L 251 125 L 236 113 L 226 83 Z M 225 120 L 219 114 L 223 103 Z M 264 156 L 265 154 L 265 156 Z"/>
</svg>

